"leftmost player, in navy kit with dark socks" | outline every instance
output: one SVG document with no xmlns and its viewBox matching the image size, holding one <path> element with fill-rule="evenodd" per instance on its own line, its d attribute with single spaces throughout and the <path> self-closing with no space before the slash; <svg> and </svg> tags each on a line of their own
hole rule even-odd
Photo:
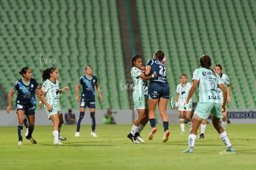
<svg viewBox="0 0 256 170">
<path fill-rule="evenodd" d="M 23 144 L 22 133 L 23 133 L 23 116 L 26 115 L 28 118 L 28 134 L 26 139 L 30 140 L 32 144 L 36 144 L 36 140 L 33 139 L 32 133 L 35 126 L 35 92 L 38 94 L 38 82 L 32 78 L 32 71 L 28 67 L 23 67 L 19 71 L 22 78 L 16 81 L 14 86 L 8 95 L 8 107 L 7 113 L 10 113 L 12 108 L 12 95 L 17 91 L 16 98 L 16 113 L 18 117 L 18 145 Z M 39 94 L 38 94 L 39 95 Z"/>
</svg>

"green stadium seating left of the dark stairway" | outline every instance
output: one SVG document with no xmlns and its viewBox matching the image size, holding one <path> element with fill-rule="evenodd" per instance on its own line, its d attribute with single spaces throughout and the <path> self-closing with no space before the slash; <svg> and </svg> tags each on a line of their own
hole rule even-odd
<svg viewBox="0 0 256 170">
<path fill-rule="evenodd" d="M 0 6 L 0 71 L 6 77 L 0 83 L 6 92 L 22 67 L 32 68 L 40 83 L 43 69 L 57 67 L 60 87 L 70 87 L 62 108 L 79 108 L 75 85 L 92 65 L 103 95 L 100 102 L 96 92 L 96 107 L 129 108 L 128 93 L 119 85 L 126 79 L 116 1 L 0 0 Z"/>
</svg>

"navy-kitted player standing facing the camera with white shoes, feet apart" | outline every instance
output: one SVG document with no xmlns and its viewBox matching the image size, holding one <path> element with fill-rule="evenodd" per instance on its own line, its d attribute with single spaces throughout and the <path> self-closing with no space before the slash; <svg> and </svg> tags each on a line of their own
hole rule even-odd
<svg viewBox="0 0 256 170">
<path fill-rule="evenodd" d="M 98 79 L 96 76 L 92 75 L 93 68 L 90 65 L 85 67 L 85 75 L 79 79 L 79 83 L 75 86 L 75 92 L 77 94 L 76 101 L 80 102 L 80 115 L 77 121 L 77 131 L 75 132 L 75 137 L 79 137 L 80 124 L 85 115 L 85 108 L 88 107 L 90 110 L 90 117 L 92 118 L 92 132 L 91 136 L 97 137 L 95 133 L 95 89 L 99 93 L 100 101 L 102 101 L 100 85 L 98 84 Z M 82 85 L 83 91 L 81 97 L 79 97 L 79 88 Z"/>
</svg>

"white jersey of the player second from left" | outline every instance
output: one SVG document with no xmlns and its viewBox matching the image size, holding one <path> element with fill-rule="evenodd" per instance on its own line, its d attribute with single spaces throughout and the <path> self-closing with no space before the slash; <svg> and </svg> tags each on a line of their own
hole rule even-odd
<svg viewBox="0 0 256 170">
<path fill-rule="evenodd" d="M 59 105 L 59 81 L 57 79 L 55 83 L 46 79 L 41 90 L 46 92 L 45 99 L 49 105 Z"/>
</svg>

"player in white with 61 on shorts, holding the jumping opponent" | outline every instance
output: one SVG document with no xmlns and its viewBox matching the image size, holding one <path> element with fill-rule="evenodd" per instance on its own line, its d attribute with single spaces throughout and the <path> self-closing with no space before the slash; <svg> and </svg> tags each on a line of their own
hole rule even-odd
<svg viewBox="0 0 256 170">
<path fill-rule="evenodd" d="M 144 142 L 140 137 L 140 132 L 145 127 L 145 124 L 148 123 L 148 105 L 147 105 L 147 95 L 148 87 L 146 80 L 156 77 L 156 73 L 153 75 L 145 76 L 145 67 L 142 66 L 142 56 L 134 55 L 132 57 L 132 69 L 130 75 L 134 81 L 134 110 L 137 110 L 138 117 L 135 119 L 134 124 L 130 133 L 127 137 L 132 140 L 134 143 Z"/>
</svg>

